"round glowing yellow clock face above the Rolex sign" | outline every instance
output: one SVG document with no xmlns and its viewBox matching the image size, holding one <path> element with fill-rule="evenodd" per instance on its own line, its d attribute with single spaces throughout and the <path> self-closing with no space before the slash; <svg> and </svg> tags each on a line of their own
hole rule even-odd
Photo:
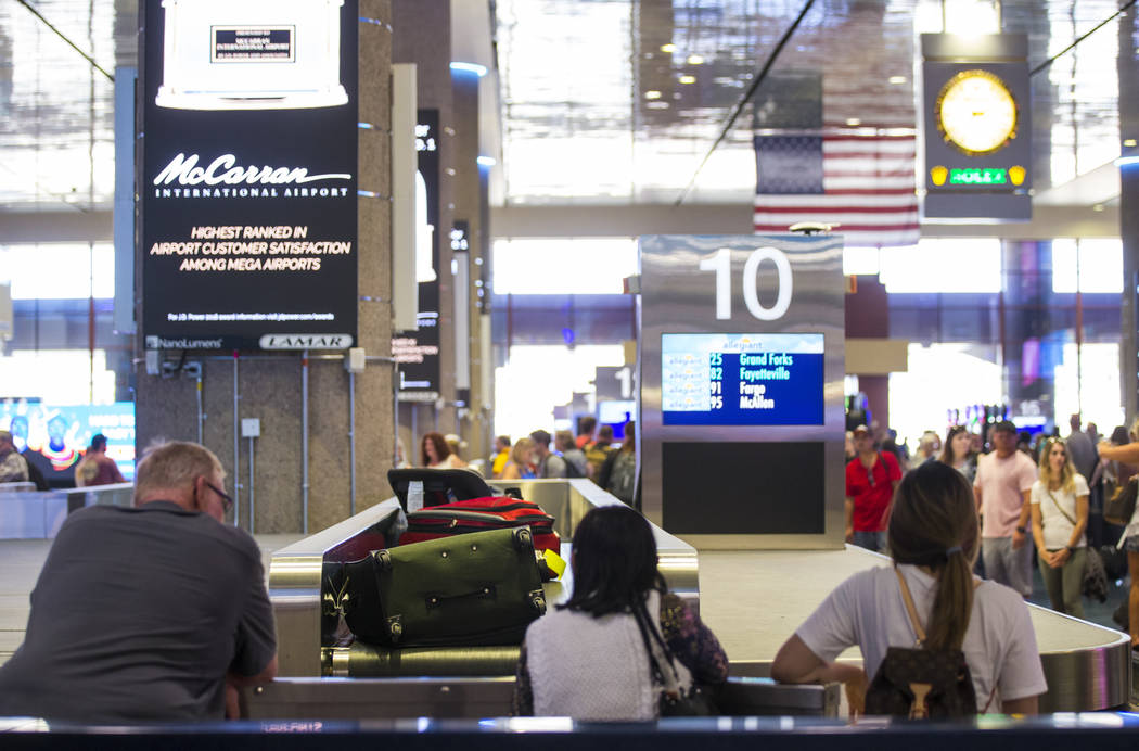
<svg viewBox="0 0 1139 751">
<path fill-rule="evenodd" d="M 988 71 L 958 73 L 937 97 L 937 125 L 966 154 L 989 154 L 1016 134 L 1016 100 Z"/>
</svg>

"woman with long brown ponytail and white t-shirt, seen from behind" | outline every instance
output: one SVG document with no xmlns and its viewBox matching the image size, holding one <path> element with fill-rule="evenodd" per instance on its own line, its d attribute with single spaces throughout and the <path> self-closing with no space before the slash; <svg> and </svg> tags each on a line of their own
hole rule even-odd
<svg viewBox="0 0 1139 751">
<path fill-rule="evenodd" d="M 779 650 L 771 677 L 865 684 L 888 647 L 912 648 L 918 640 L 904 588 L 926 631 L 923 646 L 965 653 L 980 712 L 1035 713 L 1048 686 L 1029 609 L 1013 589 L 973 578 L 977 506 L 961 473 L 929 462 L 907 474 L 894 493 L 887 541 L 894 565 L 838 585 Z M 865 672 L 835 662 L 854 645 Z"/>
</svg>

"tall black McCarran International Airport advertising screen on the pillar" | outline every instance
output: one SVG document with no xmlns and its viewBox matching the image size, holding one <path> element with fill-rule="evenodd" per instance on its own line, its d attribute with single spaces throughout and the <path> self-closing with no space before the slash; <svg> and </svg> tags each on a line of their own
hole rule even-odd
<svg viewBox="0 0 1139 751">
<path fill-rule="evenodd" d="M 357 337 L 357 0 L 142 0 L 148 349 Z"/>
</svg>

